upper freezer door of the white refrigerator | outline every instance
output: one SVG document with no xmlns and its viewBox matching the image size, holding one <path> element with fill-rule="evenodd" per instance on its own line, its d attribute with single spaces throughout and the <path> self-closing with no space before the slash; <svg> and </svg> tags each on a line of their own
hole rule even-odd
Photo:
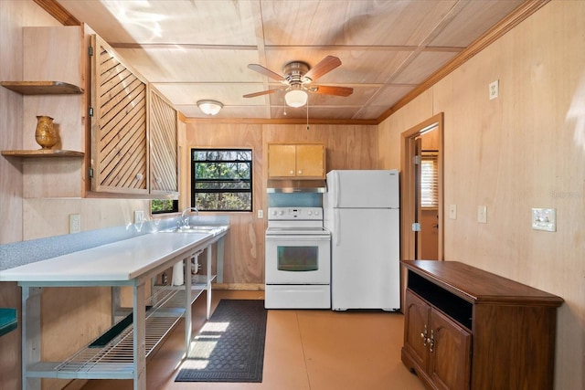
<svg viewBox="0 0 585 390">
<path fill-rule="evenodd" d="M 399 208 L 399 172 L 330 171 L 323 202 L 334 208 Z"/>
</svg>

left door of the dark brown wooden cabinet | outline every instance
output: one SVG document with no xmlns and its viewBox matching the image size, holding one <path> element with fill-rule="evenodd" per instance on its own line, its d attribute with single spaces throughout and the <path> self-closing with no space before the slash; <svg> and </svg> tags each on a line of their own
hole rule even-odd
<svg viewBox="0 0 585 390">
<path fill-rule="evenodd" d="M 416 364 L 424 371 L 427 370 L 429 346 L 426 343 L 431 330 L 428 328 L 431 307 L 410 290 L 406 291 L 404 311 L 404 348 Z"/>
</svg>

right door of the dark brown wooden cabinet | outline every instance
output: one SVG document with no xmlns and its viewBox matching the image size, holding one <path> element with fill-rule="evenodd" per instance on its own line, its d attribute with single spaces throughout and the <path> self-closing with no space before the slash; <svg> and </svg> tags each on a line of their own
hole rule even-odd
<svg viewBox="0 0 585 390">
<path fill-rule="evenodd" d="M 471 333 L 441 311 L 431 310 L 429 374 L 439 389 L 470 388 Z"/>
</svg>

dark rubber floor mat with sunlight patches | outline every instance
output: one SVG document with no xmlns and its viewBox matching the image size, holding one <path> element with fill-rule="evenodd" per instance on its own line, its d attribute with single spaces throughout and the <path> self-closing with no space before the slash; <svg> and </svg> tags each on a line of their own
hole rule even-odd
<svg viewBox="0 0 585 390">
<path fill-rule="evenodd" d="M 264 300 L 220 300 L 195 336 L 176 382 L 262 382 Z"/>
</svg>

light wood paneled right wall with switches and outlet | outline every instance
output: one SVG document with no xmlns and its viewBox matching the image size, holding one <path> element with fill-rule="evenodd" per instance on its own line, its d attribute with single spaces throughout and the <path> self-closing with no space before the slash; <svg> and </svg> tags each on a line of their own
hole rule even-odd
<svg viewBox="0 0 585 390">
<path fill-rule="evenodd" d="M 552 1 L 379 125 L 383 140 L 444 112 L 444 254 L 564 298 L 555 389 L 585 388 L 585 2 Z M 500 94 L 488 99 L 499 79 Z M 380 150 L 384 164 L 399 146 Z M 487 224 L 477 206 L 487 206 Z M 531 207 L 557 209 L 557 232 Z M 535 368 L 536 369 L 536 368 Z"/>
</svg>

